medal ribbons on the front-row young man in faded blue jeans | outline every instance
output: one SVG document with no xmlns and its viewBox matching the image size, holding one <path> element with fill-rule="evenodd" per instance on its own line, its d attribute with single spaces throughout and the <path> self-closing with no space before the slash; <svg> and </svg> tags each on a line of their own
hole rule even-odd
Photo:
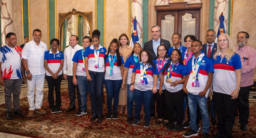
<svg viewBox="0 0 256 138">
<path fill-rule="evenodd" d="M 201 60 L 202 60 L 203 56 L 204 55 L 201 53 L 201 55 L 199 55 L 199 57 L 196 58 L 193 56 L 193 58 L 192 58 L 192 73 L 193 73 L 192 87 L 200 87 L 199 80 L 198 80 L 198 74 L 199 74 L 199 66 L 201 64 Z M 196 59 L 195 62 L 194 62 L 194 59 Z"/>
</svg>

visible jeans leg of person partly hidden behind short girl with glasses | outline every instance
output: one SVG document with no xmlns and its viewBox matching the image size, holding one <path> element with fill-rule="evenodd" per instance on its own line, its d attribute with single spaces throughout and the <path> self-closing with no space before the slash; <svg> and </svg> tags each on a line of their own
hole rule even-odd
<svg viewBox="0 0 256 138">
<path fill-rule="evenodd" d="M 134 92 L 130 91 L 130 84 L 127 84 L 127 115 L 133 117 Z"/>
</svg>

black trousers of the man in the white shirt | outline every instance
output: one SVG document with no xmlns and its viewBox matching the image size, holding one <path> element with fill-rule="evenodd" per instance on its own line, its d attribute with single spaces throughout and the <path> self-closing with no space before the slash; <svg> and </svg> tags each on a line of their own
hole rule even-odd
<svg viewBox="0 0 256 138">
<path fill-rule="evenodd" d="M 68 76 L 68 75 L 67 75 Z M 78 101 L 78 109 L 81 109 L 81 94 L 78 85 L 73 84 L 73 76 L 68 76 L 68 89 L 69 89 L 69 107 L 76 108 L 76 95 Z"/>
</svg>

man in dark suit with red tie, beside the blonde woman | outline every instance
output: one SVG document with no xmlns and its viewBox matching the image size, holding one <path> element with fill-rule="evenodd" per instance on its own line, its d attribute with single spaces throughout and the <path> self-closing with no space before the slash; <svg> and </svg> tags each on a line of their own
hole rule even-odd
<svg viewBox="0 0 256 138">
<path fill-rule="evenodd" d="M 203 44 L 203 48 L 202 51 L 204 52 L 204 55 L 206 55 L 207 57 L 209 57 L 210 59 L 213 58 L 214 53 L 217 51 L 217 44 L 214 42 L 214 40 L 216 39 L 216 32 L 215 30 L 208 30 L 206 32 L 206 44 Z M 216 120 L 215 120 L 215 110 L 214 110 L 214 104 L 213 104 L 213 97 L 211 99 L 210 102 L 210 114 L 211 114 L 211 124 L 212 125 L 217 125 Z M 209 97 L 208 97 L 208 100 Z"/>
</svg>

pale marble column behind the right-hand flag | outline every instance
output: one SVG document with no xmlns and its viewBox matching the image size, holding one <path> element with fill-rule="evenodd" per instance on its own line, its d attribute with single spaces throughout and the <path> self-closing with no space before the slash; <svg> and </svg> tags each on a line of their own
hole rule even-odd
<svg viewBox="0 0 256 138">
<path fill-rule="evenodd" d="M 216 33 L 218 32 L 218 28 L 220 26 L 219 17 L 221 12 L 223 12 L 223 16 L 225 17 L 224 20 L 224 27 L 225 32 L 228 34 L 228 0 L 215 0 L 214 3 L 214 30 Z"/>
</svg>

